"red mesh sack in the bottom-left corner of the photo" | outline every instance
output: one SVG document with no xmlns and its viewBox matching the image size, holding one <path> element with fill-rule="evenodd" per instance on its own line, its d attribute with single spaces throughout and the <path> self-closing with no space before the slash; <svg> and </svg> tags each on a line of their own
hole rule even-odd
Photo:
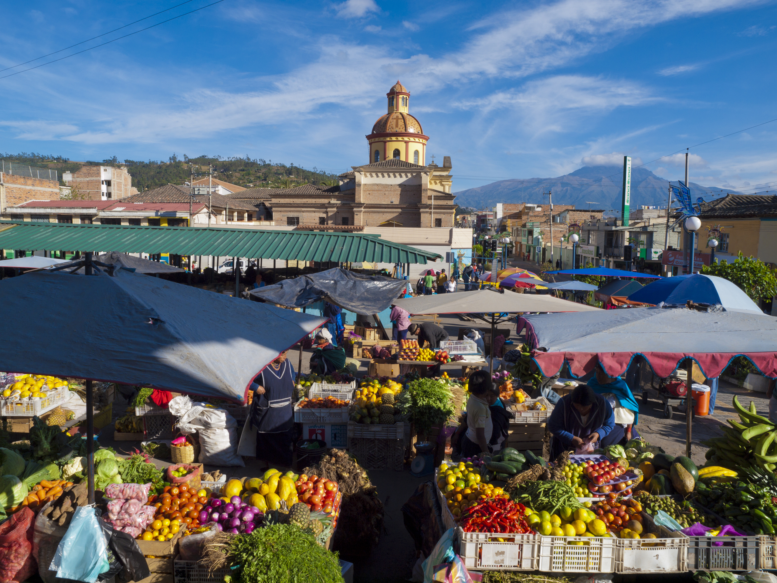
<svg viewBox="0 0 777 583">
<path fill-rule="evenodd" d="M 38 572 L 33 557 L 35 512 L 26 506 L 0 525 L 0 582 L 26 581 Z"/>
</svg>

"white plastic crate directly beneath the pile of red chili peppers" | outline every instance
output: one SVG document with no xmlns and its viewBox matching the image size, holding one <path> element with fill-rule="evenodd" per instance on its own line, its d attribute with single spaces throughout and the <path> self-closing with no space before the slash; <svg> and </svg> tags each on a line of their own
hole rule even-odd
<svg viewBox="0 0 777 583">
<path fill-rule="evenodd" d="M 468 569 L 536 571 L 539 537 L 531 534 L 456 531 L 458 554 Z"/>
</svg>

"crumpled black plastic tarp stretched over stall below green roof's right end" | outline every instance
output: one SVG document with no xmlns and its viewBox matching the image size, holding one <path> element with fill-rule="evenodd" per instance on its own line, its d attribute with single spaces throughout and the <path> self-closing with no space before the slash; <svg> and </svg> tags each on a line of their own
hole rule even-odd
<svg viewBox="0 0 777 583">
<path fill-rule="evenodd" d="M 370 316 L 392 305 L 404 292 L 406 283 L 403 279 L 355 274 L 336 267 L 318 274 L 286 279 L 249 293 L 255 298 L 288 308 L 303 308 L 325 300 L 350 312 Z"/>
</svg>

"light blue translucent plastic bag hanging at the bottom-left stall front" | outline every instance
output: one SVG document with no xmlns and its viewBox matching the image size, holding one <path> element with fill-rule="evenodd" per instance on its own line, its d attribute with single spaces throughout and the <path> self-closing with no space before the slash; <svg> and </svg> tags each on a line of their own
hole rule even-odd
<svg viewBox="0 0 777 583">
<path fill-rule="evenodd" d="M 57 570 L 58 578 L 94 583 L 108 567 L 108 545 L 96 511 L 88 506 L 79 506 L 75 509 L 68 532 L 57 546 L 51 568 Z"/>
</svg>

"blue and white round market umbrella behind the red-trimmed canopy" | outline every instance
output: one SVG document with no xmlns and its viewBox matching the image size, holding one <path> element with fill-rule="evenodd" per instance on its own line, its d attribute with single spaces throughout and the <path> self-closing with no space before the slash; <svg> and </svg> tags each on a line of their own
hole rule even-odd
<svg viewBox="0 0 777 583">
<path fill-rule="evenodd" d="M 685 304 L 690 300 L 697 304 L 722 305 L 729 311 L 763 313 L 737 285 L 714 275 L 678 275 L 653 281 L 629 295 L 629 299 L 646 304 Z"/>
</svg>

